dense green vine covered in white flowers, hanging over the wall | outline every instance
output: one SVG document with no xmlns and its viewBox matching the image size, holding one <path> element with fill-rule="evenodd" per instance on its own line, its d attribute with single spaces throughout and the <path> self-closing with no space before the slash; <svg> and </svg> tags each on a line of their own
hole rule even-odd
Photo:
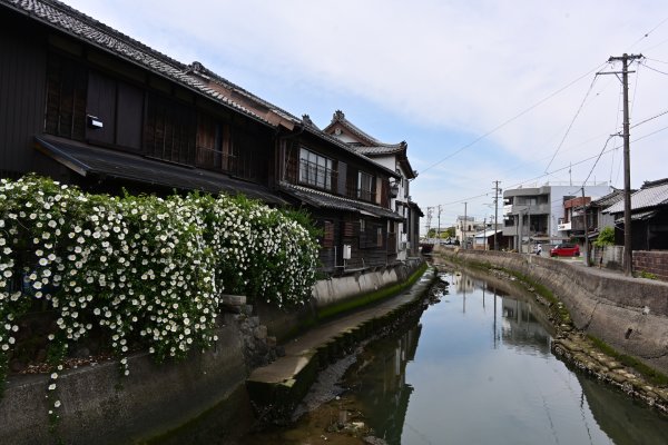
<svg viewBox="0 0 668 445">
<path fill-rule="evenodd" d="M 317 251 L 304 215 L 244 198 L 109 197 L 36 176 L 2 180 L 0 385 L 19 322 L 39 305 L 57 326 L 50 395 L 68 348 L 92 329 L 128 374 L 130 344 L 163 360 L 216 342 L 220 294 L 305 303 Z"/>
</svg>

